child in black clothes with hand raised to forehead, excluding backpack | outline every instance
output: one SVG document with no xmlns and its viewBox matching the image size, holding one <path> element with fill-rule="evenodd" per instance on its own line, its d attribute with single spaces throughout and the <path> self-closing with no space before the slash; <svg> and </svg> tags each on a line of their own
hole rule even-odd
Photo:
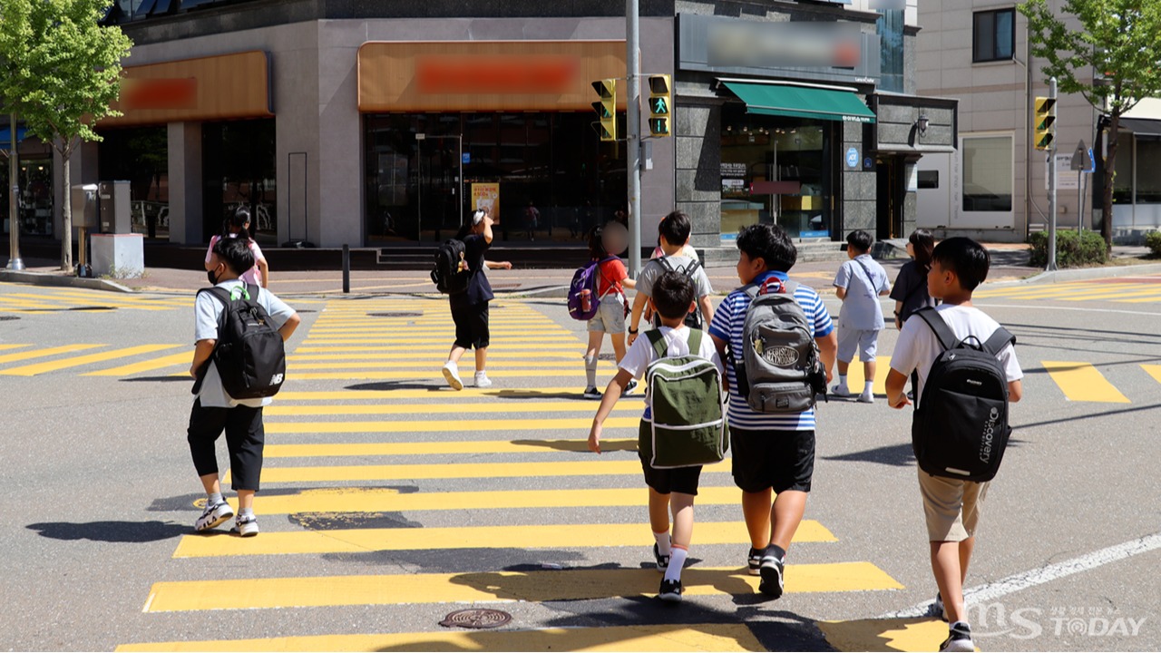
<svg viewBox="0 0 1161 653">
<path fill-rule="evenodd" d="M 477 210 L 471 216 L 469 224 L 460 229 L 457 239 L 463 241 L 463 260 L 460 264 L 461 271 L 469 275 L 468 288 L 462 293 L 448 295 L 448 303 L 452 307 L 452 321 L 455 322 L 455 343 L 447 354 L 447 363 L 444 364 L 444 379 L 456 390 L 463 389 L 463 381 L 460 379 L 460 357 L 469 349 L 476 351 L 476 378 L 477 388 L 491 387 L 492 381 L 485 371 L 488 365 L 488 345 L 490 332 L 488 329 L 488 302 L 495 295 L 492 286 L 488 281 L 488 275 L 483 270 L 484 252 L 492 244 L 492 218 L 486 210 Z M 504 266 L 499 264 L 498 266 Z M 510 268 L 511 264 L 506 264 Z"/>
</svg>

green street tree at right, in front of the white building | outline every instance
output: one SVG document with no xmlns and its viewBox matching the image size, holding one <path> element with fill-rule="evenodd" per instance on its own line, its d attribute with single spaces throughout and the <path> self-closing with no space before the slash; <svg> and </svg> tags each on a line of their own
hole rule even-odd
<svg viewBox="0 0 1161 653">
<path fill-rule="evenodd" d="M 1158 0 L 1065 0 L 1062 13 L 1081 24 L 1070 29 L 1046 0 L 1017 8 L 1027 16 L 1032 56 L 1047 62 L 1045 77 L 1063 93 L 1080 93 L 1109 116 L 1104 158 L 1101 234 L 1112 246 L 1112 181 L 1120 116 L 1145 98 L 1161 95 L 1161 2 Z"/>
</svg>

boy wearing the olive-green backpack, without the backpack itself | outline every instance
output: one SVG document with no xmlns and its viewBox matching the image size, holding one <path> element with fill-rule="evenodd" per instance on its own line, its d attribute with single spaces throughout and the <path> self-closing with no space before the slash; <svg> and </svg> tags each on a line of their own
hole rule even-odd
<svg viewBox="0 0 1161 653">
<path fill-rule="evenodd" d="M 647 338 L 640 338 L 629 347 L 625 358 L 621 359 L 620 369 L 608 382 L 597 416 L 593 417 L 592 429 L 589 431 L 589 450 L 596 453 L 600 453 L 601 425 L 621 396 L 621 389 L 630 380 L 640 379 L 647 369 L 651 373 L 651 364 L 662 358 L 697 357 L 701 365 L 708 365 L 706 361 L 711 361 L 715 366 L 713 376 L 719 381 L 716 385 L 706 383 L 706 387 L 709 388 L 707 390 L 709 395 L 716 393 L 717 396 L 716 399 L 705 396 L 704 401 L 691 403 L 705 408 L 716 401 L 717 415 L 721 417 L 721 357 L 714 349 L 713 342 L 704 337 L 701 330 L 690 329 L 684 323 L 686 314 L 697 308 L 693 284 L 684 274 L 666 272 L 656 279 L 652 289 L 654 294 L 649 302 L 661 315 L 662 328 L 650 332 Z M 697 365 L 698 361 L 692 363 Z M 637 431 L 637 455 L 641 459 L 646 485 L 649 486 L 649 525 L 655 539 L 654 559 L 657 564 L 657 571 L 664 573 L 657 596 L 662 601 L 676 603 L 682 601 L 682 568 L 685 565 L 693 537 L 693 500 L 698 495 L 701 465 L 654 466 L 652 421 L 662 418 L 661 415 L 655 415 L 652 411 L 654 389 L 654 386 L 650 385 L 649 393 L 646 394 L 646 411 L 641 417 L 641 426 Z M 717 433 L 717 437 L 726 437 L 724 422 L 721 424 L 721 432 Z M 724 442 L 721 445 L 724 446 Z M 724 451 L 719 450 L 717 453 L 708 461 L 721 460 Z M 672 536 L 669 529 L 669 511 L 673 514 Z"/>
</svg>

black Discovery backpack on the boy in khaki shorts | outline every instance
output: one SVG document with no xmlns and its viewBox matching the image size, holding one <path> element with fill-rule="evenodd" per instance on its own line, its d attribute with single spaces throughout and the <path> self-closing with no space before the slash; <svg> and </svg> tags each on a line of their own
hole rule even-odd
<svg viewBox="0 0 1161 653">
<path fill-rule="evenodd" d="M 1003 326 L 985 343 L 956 338 L 930 307 L 915 316 L 928 323 L 943 349 L 915 403 L 911 447 L 932 476 L 983 482 L 995 478 L 1008 447 L 1008 378 L 996 356 L 1016 337 Z M 911 374 L 916 386 L 918 374 Z"/>
</svg>

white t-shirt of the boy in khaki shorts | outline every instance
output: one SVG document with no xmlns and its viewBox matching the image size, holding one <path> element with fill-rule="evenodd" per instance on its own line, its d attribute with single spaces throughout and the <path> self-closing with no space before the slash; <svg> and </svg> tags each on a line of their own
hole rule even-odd
<svg viewBox="0 0 1161 653">
<path fill-rule="evenodd" d="M 958 339 L 975 336 L 982 344 L 1000 328 L 998 322 L 974 307 L 945 303 L 936 307 L 936 310 L 939 311 L 939 317 L 943 317 Z M 913 315 L 899 332 L 895 353 L 890 357 L 890 368 L 907 376 L 911 374 L 913 369 L 917 371 L 920 383 L 915 388 L 915 393 L 916 396 L 922 397 L 928 373 L 931 372 L 931 365 L 942 351 L 943 347 L 939 346 L 939 339 L 936 338 L 931 326 L 928 326 L 922 317 Z M 1000 359 L 1000 365 L 1004 368 L 1008 382 L 1024 378 L 1019 361 L 1016 360 L 1016 347 L 1009 344 L 996 358 Z"/>
</svg>

